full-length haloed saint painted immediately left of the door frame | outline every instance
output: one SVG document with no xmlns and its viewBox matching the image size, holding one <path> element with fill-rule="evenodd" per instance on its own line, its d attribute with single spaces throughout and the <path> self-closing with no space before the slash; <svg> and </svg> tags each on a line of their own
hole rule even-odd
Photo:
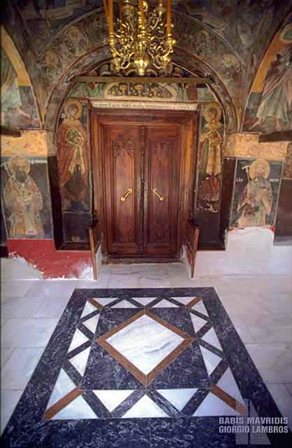
<svg viewBox="0 0 292 448">
<path fill-rule="evenodd" d="M 58 167 L 65 210 L 72 202 L 81 202 L 88 209 L 88 145 L 81 123 L 82 104 L 69 99 L 64 106 L 66 118 L 58 130 Z"/>
</svg>

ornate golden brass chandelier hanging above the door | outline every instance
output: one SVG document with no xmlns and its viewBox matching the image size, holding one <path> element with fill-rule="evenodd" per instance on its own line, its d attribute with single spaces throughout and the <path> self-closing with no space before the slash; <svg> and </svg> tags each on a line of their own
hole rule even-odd
<svg viewBox="0 0 292 448">
<path fill-rule="evenodd" d="M 109 45 L 115 71 L 135 69 L 144 76 L 150 64 L 165 69 L 174 52 L 171 0 L 159 0 L 150 10 L 148 1 L 120 0 L 119 18 L 113 15 L 113 0 L 104 0 L 109 25 Z"/>
</svg>

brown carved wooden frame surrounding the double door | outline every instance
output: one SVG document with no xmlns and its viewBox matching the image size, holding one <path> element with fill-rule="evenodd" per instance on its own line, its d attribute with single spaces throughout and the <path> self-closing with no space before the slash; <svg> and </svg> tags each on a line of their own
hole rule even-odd
<svg viewBox="0 0 292 448">
<path fill-rule="evenodd" d="M 163 125 L 174 123 L 181 126 L 181 160 L 180 160 L 180 194 L 179 194 L 179 221 L 178 244 L 181 248 L 186 237 L 186 224 L 192 214 L 193 194 L 195 190 L 195 167 L 197 166 L 197 111 L 152 111 L 152 110 L 121 110 L 121 109 L 95 109 L 90 110 L 91 140 L 92 140 L 92 180 L 93 180 L 93 207 L 101 223 L 102 255 L 104 262 L 120 257 L 109 257 L 107 253 L 106 215 L 105 215 L 105 166 L 104 149 L 102 142 L 102 125 Z M 141 179 L 143 182 L 143 179 Z M 145 204 L 144 204 L 145 207 Z M 179 258 L 179 254 L 178 257 Z M 168 258 L 151 258 L 144 256 L 127 258 L 136 262 L 167 262 Z"/>
</svg>

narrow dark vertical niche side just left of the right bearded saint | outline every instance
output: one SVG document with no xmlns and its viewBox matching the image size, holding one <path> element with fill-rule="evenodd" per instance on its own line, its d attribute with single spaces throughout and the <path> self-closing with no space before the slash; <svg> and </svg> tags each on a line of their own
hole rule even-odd
<svg viewBox="0 0 292 448">
<path fill-rule="evenodd" d="M 225 231 L 228 230 L 232 193 L 235 180 L 236 159 L 223 159 L 223 179 L 220 208 L 220 232 L 219 239 L 224 244 Z"/>
</svg>

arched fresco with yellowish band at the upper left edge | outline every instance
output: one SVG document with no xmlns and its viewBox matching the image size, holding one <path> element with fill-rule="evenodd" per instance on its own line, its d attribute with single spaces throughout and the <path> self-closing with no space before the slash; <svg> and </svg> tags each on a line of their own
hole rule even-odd
<svg viewBox="0 0 292 448">
<path fill-rule="evenodd" d="M 1 125 L 39 128 L 39 116 L 25 66 L 1 28 Z"/>
</svg>

